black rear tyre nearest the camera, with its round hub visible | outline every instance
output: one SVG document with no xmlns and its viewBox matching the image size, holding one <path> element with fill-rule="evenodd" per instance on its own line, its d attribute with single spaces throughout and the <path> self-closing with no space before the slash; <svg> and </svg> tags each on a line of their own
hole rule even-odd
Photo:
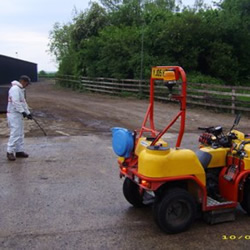
<svg viewBox="0 0 250 250">
<path fill-rule="evenodd" d="M 196 203 L 191 194 L 182 188 L 172 188 L 153 207 L 157 225 L 165 233 L 186 231 L 196 216 Z"/>
</svg>

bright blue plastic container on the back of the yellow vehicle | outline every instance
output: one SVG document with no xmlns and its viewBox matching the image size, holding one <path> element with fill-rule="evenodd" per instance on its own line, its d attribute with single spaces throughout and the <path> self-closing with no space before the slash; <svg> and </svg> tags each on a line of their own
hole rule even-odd
<svg viewBox="0 0 250 250">
<path fill-rule="evenodd" d="M 134 148 L 133 132 L 126 128 L 112 128 L 112 146 L 118 156 L 128 158 Z"/>
</svg>

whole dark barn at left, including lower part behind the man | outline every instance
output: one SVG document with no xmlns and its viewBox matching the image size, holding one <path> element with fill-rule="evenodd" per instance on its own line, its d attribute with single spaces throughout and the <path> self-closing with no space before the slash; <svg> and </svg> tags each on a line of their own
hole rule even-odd
<svg viewBox="0 0 250 250">
<path fill-rule="evenodd" d="M 21 75 L 37 82 L 37 64 L 0 55 L 0 113 L 6 112 L 10 83 Z"/>
</svg>

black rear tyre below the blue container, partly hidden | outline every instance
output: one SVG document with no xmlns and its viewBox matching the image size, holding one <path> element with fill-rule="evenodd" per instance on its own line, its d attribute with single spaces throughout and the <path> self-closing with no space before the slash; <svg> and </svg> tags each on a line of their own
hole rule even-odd
<svg viewBox="0 0 250 250">
<path fill-rule="evenodd" d="M 123 194 L 126 200 L 134 207 L 143 207 L 143 194 L 139 192 L 139 186 L 126 178 L 123 183 Z"/>
</svg>

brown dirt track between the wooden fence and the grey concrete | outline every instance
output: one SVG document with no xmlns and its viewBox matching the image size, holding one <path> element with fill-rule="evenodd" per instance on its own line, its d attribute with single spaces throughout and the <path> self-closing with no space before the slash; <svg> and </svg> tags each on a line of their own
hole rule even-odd
<svg viewBox="0 0 250 250">
<path fill-rule="evenodd" d="M 35 83 L 27 89 L 27 99 L 33 114 L 49 135 L 86 135 L 107 133 L 111 127 L 139 128 L 148 101 L 93 93 L 77 93 L 62 89 L 53 82 Z M 161 129 L 177 114 L 177 104 L 156 103 L 156 128 Z M 199 133 L 198 126 L 232 126 L 234 116 L 197 108 L 187 109 L 186 132 Z M 240 129 L 250 132 L 250 118 L 243 116 Z M 26 121 L 26 136 L 41 136 L 32 121 Z M 178 124 L 170 131 L 177 132 Z M 0 136 L 8 134 L 6 122 L 0 121 Z"/>
</svg>

